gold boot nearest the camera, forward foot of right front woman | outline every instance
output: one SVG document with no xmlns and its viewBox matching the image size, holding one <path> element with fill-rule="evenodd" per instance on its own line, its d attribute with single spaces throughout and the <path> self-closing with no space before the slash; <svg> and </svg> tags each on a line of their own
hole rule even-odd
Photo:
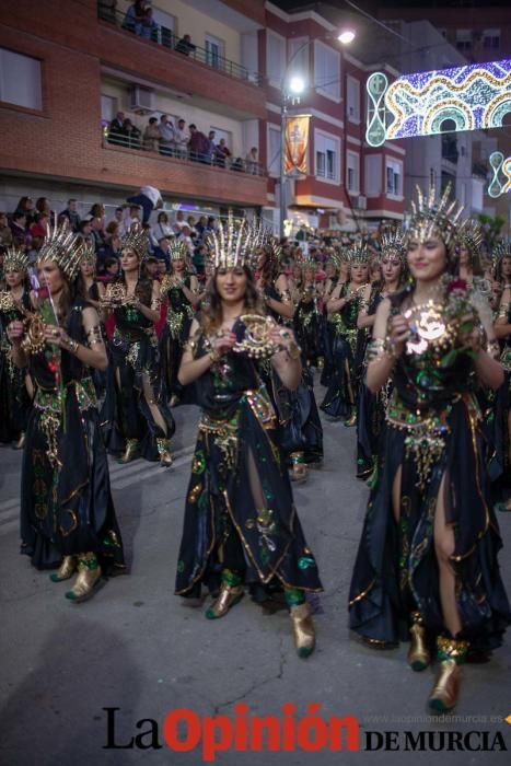
<svg viewBox="0 0 511 766">
<path fill-rule="evenodd" d="M 460 694 L 462 665 L 468 650 L 468 641 L 439 636 L 437 639 L 437 658 L 439 670 L 434 686 L 428 698 L 428 707 L 433 712 L 453 710 Z"/>
</svg>

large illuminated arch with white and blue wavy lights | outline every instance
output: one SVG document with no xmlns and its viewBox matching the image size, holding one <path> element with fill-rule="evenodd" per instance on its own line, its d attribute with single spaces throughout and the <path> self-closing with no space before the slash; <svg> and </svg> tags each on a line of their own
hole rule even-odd
<svg viewBox="0 0 511 766">
<path fill-rule="evenodd" d="M 404 74 L 387 82 L 383 72 L 368 80 L 370 146 L 442 132 L 445 119 L 453 119 L 456 130 L 501 127 L 511 112 L 511 59 Z"/>
</svg>

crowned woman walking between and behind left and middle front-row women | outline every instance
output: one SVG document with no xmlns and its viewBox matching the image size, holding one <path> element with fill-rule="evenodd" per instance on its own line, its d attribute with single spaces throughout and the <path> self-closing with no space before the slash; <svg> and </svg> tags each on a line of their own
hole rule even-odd
<svg viewBox="0 0 511 766">
<path fill-rule="evenodd" d="M 121 463 L 142 456 L 170 466 L 175 423 L 162 382 L 154 329 L 160 318 L 160 282 L 143 274 L 148 240 L 138 227 L 123 236 L 120 249 L 120 276 L 107 286 L 102 302 L 116 323 L 101 410 L 105 442 L 114 454 L 124 450 Z"/>
</svg>

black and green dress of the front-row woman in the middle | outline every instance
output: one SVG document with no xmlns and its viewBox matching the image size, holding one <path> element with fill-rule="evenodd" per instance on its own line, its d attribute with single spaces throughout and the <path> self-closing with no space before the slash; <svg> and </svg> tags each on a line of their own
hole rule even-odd
<svg viewBox="0 0 511 766">
<path fill-rule="evenodd" d="M 239 339 L 244 325 L 237 320 Z M 207 353 L 201 334 L 196 358 Z M 201 417 L 186 496 L 176 594 L 216 591 L 223 569 L 254 597 L 266 589 L 321 591 L 316 561 L 294 508 L 274 406 L 255 363 L 229 352 L 198 381 Z"/>
</svg>

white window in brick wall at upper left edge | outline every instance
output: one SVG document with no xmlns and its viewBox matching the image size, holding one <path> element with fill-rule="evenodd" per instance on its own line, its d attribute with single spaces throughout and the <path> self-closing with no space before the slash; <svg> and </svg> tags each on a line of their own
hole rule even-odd
<svg viewBox="0 0 511 766">
<path fill-rule="evenodd" d="M 43 112 L 43 62 L 0 47 L 0 102 Z"/>
</svg>

